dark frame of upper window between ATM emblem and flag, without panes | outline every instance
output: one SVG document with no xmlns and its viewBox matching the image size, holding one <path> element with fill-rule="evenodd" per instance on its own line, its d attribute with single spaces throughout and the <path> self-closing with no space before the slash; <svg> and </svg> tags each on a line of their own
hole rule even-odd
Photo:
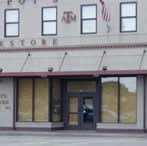
<svg viewBox="0 0 147 146">
<path fill-rule="evenodd" d="M 83 7 L 89 7 L 89 6 L 95 6 L 96 7 L 96 18 L 82 18 L 83 16 Z M 96 27 L 96 31 L 95 32 L 83 32 L 83 22 L 84 21 L 90 21 L 90 20 L 95 20 L 95 27 Z M 97 4 L 88 4 L 88 5 L 81 5 L 81 34 L 97 34 Z"/>
</svg>

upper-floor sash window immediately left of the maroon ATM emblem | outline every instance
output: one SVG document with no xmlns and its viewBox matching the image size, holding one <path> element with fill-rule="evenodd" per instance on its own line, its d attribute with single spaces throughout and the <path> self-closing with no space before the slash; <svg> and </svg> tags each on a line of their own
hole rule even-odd
<svg viewBox="0 0 147 146">
<path fill-rule="evenodd" d="M 42 9 L 42 35 L 57 34 L 57 8 L 48 7 Z"/>
</svg>

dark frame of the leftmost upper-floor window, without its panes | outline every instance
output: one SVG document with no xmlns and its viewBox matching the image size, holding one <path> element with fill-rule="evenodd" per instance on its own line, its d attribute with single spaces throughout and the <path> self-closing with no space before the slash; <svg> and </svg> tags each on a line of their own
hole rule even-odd
<svg viewBox="0 0 147 146">
<path fill-rule="evenodd" d="M 18 22 L 6 22 L 6 17 L 7 17 L 7 15 L 6 15 L 6 13 L 7 13 L 7 11 L 16 11 L 17 10 L 17 12 L 18 12 Z M 7 35 L 7 24 L 18 24 L 18 34 L 17 35 Z M 9 38 L 9 37 L 19 37 L 19 32 L 20 32 L 20 10 L 19 10 L 19 8 L 17 8 L 17 9 L 5 9 L 5 11 L 4 11 L 4 37 L 7 37 L 7 38 Z"/>
</svg>

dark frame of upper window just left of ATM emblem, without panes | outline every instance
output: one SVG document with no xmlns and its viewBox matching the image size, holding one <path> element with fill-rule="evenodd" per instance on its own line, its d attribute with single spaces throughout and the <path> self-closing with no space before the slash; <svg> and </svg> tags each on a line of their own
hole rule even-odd
<svg viewBox="0 0 147 146">
<path fill-rule="evenodd" d="M 55 8 L 56 9 L 56 20 L 43 20 L 43 15 L 44 15 L 44 13 L 43 13 L 43 9 L 50 9 L 50 8 Z M 41 21 L 41 30 L 42 30 L 42 32 L 41 32 L 41 35 L 42 36 L 56 36 L 57 35 L 57 6 L 53 6 L 53 7 L 42 7 L 42 21 Z M 45 34 L 44 33 L 44 22 L 56 22 L 56 33 L 55 34 Z"/>
</svg>

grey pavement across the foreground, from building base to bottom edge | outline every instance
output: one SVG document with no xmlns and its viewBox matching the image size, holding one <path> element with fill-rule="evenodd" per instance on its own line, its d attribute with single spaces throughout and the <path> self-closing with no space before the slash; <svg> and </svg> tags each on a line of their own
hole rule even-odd
<svg viewBox="0 0 147 146">
<path fill-rule="evenodd" d="M 0 146 L 147 146 L 147 134 L 0 132 Z"/>
</svg>

